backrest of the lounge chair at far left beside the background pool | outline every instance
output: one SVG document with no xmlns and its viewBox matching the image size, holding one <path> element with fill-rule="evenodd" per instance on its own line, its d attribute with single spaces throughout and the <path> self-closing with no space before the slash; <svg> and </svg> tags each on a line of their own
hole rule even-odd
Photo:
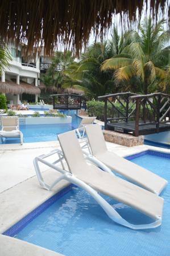
<svg viewBox="0 0 170 256">
<path fill-rule="evenodd" d="M 1 117 L 3 131 L 13 131 L 19 129 L 18 117 Z"/>
</svg>

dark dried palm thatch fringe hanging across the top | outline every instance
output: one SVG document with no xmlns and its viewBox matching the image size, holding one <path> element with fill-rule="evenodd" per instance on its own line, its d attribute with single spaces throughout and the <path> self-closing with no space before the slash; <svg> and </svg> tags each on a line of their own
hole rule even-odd
<svg viewBox="0 0 170 256">
<path fill-rule="evenodd" d="M 0 35 L 6 42 L 27 43 L 27 51 L 44 46 L 49 55 L 61 42 L 78 53 L 92 30 L 103 38 L 114 14 L 122 23 L 139 19 L 143 6 L 152 16 L 168 11 L 169 0 L 1 0 Z"/>
</svg>

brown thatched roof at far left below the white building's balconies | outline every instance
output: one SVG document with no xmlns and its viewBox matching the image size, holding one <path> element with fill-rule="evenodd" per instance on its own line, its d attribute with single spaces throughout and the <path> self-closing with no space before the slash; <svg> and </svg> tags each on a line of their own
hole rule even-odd
<svg viewBox="0 0 170 256">
<path fill-rule="evenodd" d="M 21 81 L 20 84 L 16 84 L 12 81 L 0 82 L 0 93 L 9 94 L 40 94 L 40 89 L 34 85 L 28 84 L 27 82 Z"/>
</svg>

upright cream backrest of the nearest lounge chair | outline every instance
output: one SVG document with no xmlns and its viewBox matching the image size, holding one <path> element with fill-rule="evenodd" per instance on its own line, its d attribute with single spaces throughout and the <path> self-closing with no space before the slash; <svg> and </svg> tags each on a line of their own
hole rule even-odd
<svg viewBox="0 0 170 256">
<path fill-rule="evenodd" d="M 80 173 L 81 168 L 85 167 L 87 163 L 75 131 L 68 131 L 67 133 L 59 134 L 58 138 L 69 171 L 75 175 Z"/>
</svg>

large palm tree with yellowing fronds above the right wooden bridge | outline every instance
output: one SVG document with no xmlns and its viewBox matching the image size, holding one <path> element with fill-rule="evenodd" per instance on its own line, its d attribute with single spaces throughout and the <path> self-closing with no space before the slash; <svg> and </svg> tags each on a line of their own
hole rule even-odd
<svg viewBox="0 0 170 256">
<path fill-rule="evenodd" d="M 139 32 L 130 32 L 132 42 L 121 53 L 103 61 L 101 71 L 114 71 L 116 84 L 127 87 L 135 80 L 147 94 L 150 86 L 160 79 L 166 79 L 169 68 L 168 31 L 164 31 L 165 20 L 155 26 L 152 19 L 145 19 Z M 153 89 L 152 87 L 151 89 Z"/>
</svg>

